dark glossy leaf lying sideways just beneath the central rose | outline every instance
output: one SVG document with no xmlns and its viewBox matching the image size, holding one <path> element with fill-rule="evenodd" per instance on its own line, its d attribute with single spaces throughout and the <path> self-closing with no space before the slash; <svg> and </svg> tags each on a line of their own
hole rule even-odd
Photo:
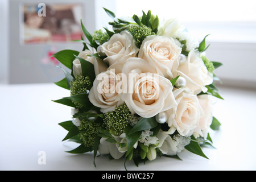
<svg viewBox="0 0 256 182">
<path fill-rule="evenodd" d="M 148 129 L 152 129 L 158 126 L 158 122 L 156 122 L 155 117 L 151 118 L 142 118 L 139 122 L 130 130 L 129 134 L 133 134 L 137 131 L 144 131 Z"/>
</svg>

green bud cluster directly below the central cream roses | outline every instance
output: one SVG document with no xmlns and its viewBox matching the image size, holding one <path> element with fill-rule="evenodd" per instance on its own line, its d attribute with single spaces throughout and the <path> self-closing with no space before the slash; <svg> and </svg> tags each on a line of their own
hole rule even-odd
<svg viewBox="0 0 256 182">
<path fill-rule="evenodd" d="M 103 121 L 106 129 L 108 129 L 110 133 L 119 136 L 125 132 L 125 127 L 130 117 L 131 112 L 129 108 L 125 104 L 122 104 L 115 107 L 114 111 L 105 113 Z"/>
</svg>

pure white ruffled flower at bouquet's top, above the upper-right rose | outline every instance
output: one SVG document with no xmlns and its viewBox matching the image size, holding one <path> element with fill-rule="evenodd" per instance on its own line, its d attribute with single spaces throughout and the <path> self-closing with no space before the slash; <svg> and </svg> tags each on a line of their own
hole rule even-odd
<svg viewBox="0 0 256 182">
<path fill-rule="evenodd" d="M 162 23 L 158 30 L 158 35 L 176 38 L 177 31 L 183 31 L 184 26 L 176 18 L 168 19 Z"/>
</svg>

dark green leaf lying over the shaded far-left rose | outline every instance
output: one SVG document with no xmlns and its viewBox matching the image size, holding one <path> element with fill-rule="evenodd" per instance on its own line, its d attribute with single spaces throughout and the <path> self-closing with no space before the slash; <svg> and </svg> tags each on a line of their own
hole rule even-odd
<svg viewBox="0 0 256 182">
<path fill-rule="evenodd" d="M 82 68 L 82 76 L 89 76 L 90 81 L 93 82 L 96 78 L 95 72 L 94 72 L 94 66 L 89 61 L 86 61 L 82 57 L 76 56 L 77 59 L 79 59 L 81 68 Z"/>
</svg>

